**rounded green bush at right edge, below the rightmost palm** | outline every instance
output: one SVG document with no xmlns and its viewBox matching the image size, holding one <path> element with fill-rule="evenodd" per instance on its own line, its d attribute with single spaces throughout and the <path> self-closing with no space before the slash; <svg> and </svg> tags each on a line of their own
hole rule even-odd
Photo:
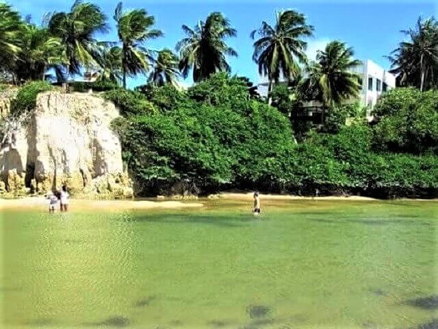
<svg viewBox="0 0 438 329">
<path fill-rule="evenodd" d="M 438 92 L 397 88 L 379 99 L 374 147 L 381 151 L 438 154 Z"/>
</svg>

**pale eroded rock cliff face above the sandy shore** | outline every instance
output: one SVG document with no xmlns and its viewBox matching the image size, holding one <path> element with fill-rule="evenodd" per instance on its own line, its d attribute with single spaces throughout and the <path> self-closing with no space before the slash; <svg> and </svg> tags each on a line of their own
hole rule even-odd
<svg viewBox="0 0 438 329">
<path fill-rule="evenodd" d="M 0 149 L 5 190 L 47 193 L 66 184 L 72 193 L 131 197 L 120 141 L 110 130 L 118 115 L 113 103 L 97 96 L 38 95 L 35 110 L 5 131 Z"/>
</svg>

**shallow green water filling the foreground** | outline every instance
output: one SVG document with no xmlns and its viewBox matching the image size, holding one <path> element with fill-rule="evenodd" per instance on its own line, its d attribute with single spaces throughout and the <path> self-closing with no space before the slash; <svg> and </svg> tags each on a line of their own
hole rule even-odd
<svg viewBox="0 0 438 329">
<path fill-rule="evenodd" d="M 3 211 L 1 328 L 438 328 L 437 202 L 71 206 Z"/>
</svg>

